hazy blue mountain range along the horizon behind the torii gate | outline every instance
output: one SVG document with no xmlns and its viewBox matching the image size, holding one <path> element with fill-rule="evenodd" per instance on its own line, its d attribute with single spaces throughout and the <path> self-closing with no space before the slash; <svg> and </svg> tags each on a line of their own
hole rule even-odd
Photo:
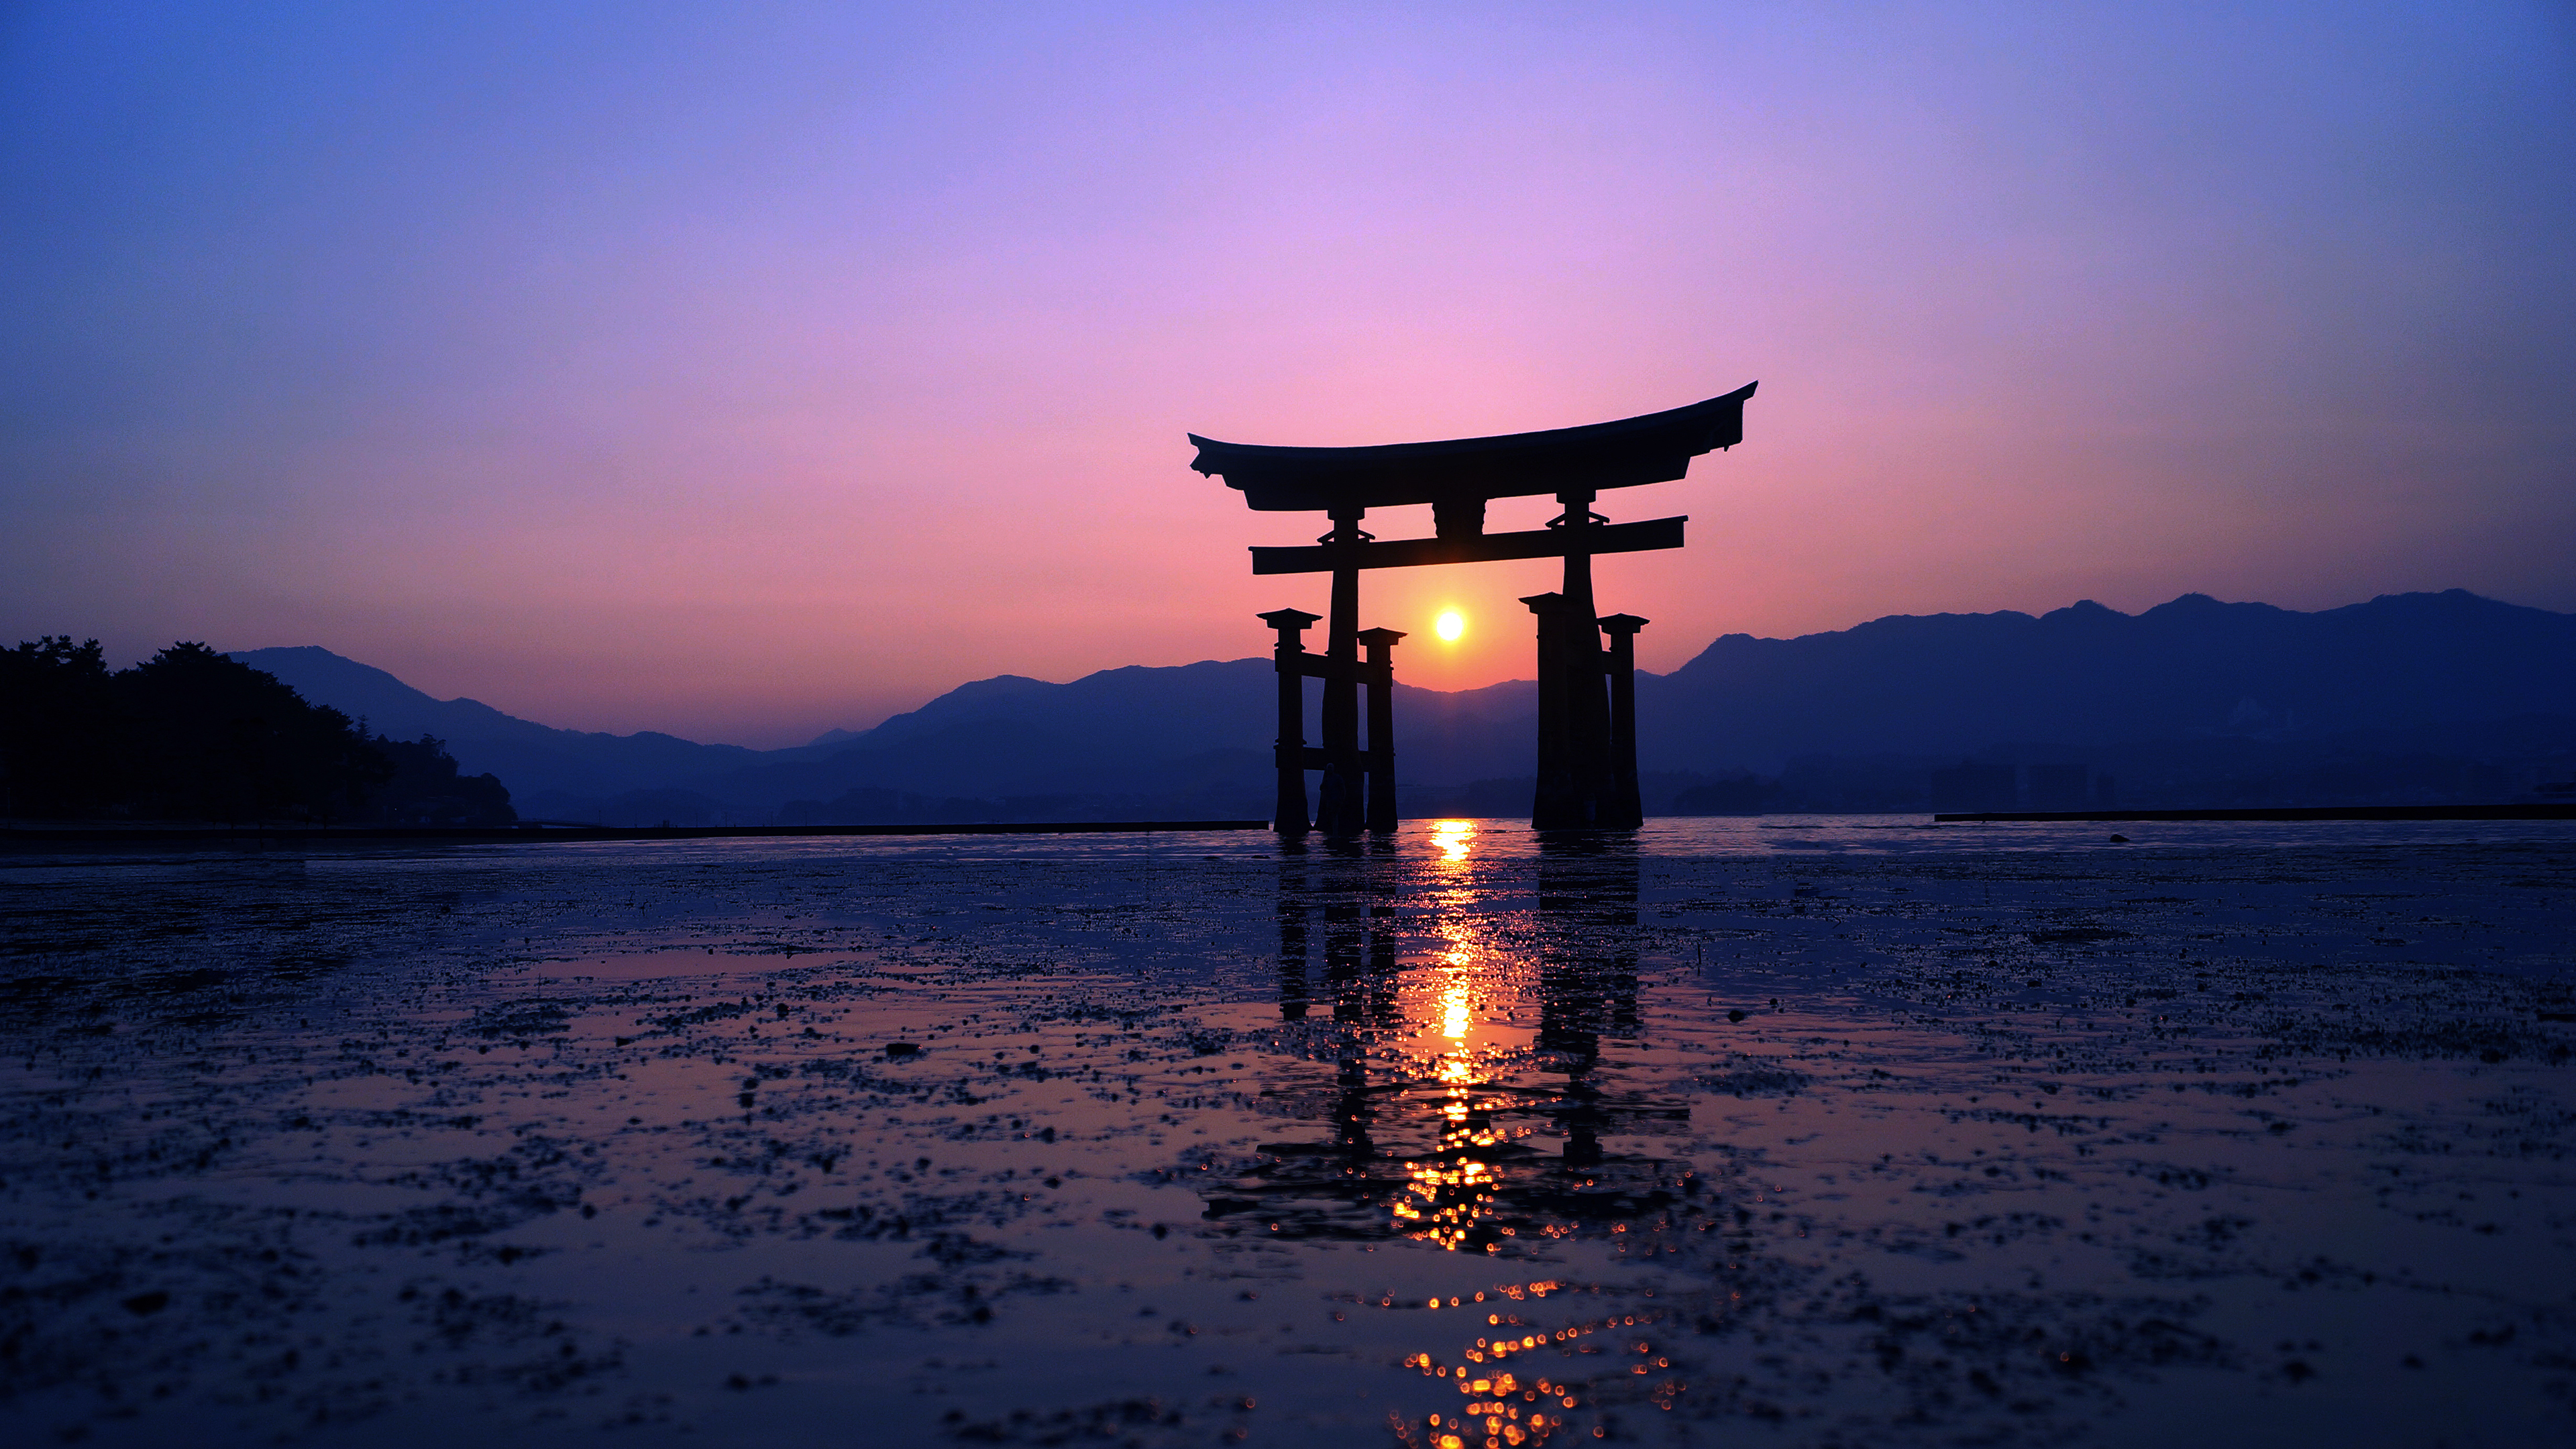
<svg viewBox="0 0 2576 1449">
<path fill-rule="evenodd" d="M 1262 815 L 1270 799 L 1267 657 L 997 676 L 788 750 L 554 730 L 319 647 L 232 657 L 379 732 L 446 740 L 531 817 L 1206 817 Z M 1641 673 L 1636 694 L 1649 810 L 1667 812 L 1692 810 L 1695 789 L 1752 799 L 1710 794 L 1747 779 L 1775 781 L 1772 807 L 1904 810 L 1935 802 L 1935 771 L 1960 761 L 1984 761 L 1989 781 L 1991 768 L 2117 771 L 2128 804 L 2512 794 L 2571 773 L 2576 616 L 2465 590 L 2313 614 L 2187 593 L 2143 614 L 2087 601 L 1888 616 L 1795 639 L 1726 634 L 1667 676 Z M 1399 781 L 1430 807 L 1517 812 L 1504 802 L 1533 737 L 1528 681 L 1396 686 Z M 2365 761 L 2378 763 L 2354 776 Z"/>
</svg>

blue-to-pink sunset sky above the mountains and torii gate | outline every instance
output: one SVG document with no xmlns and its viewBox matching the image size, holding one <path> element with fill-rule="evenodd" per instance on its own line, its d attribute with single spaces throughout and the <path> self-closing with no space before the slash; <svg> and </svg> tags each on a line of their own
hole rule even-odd
<svg viewBox="0 0 2576 1449">
<path fill-rule="evenodd" d="M 2563 3 L 18 0 L 0 642 L 788 745 L 1321 611 L 1244 547 L 1324 518 L 1185 433 L 1757 379 L 1597 505 L 1690 516 L 1597 570 L 1643 668 L 2190 590 L 2576 611 L 2571 227 Z M 1378 570 L 1363 624 L 1528 678 L 1553 585 Z"/>
</svg>

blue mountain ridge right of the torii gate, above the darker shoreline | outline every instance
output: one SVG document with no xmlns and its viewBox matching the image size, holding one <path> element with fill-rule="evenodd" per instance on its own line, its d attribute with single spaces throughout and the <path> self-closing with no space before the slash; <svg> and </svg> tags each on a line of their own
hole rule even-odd
<svg viewBox="0 0 2576 1449">
<path fill-rule="evenodd" d="M 2468 590 L 2298 614 L 2184 593 L 2146 614 L 1873 619 L 1726 634 L 1638 681 L 1649 768 L 1777 768 L 1808 753 L 1960 753 L 2282 737 L 2576 714 L 2576 616 Z"/>
</svg>

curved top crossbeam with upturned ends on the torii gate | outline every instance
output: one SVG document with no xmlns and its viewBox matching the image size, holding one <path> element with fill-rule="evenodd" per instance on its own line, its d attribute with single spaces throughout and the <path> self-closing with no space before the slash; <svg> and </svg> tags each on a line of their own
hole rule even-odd
<svg viewBox="0 0 2576 1449">
<path fill-rule="evenodd" d="M 1690 459 L 1741 443 L 1744 400 L 1752 394 L 1754 384 L 1744 384 L 1726 397 L 1618 423 L 1368 449 L 1270 449 L 1190 433 L 1198 443 L 1190 467 L 1221 474 L 1260 513 L 1347 513 L 1569 487 L 1636 487 L 1672 482 L 1690 472 Z"/>
</svg>

